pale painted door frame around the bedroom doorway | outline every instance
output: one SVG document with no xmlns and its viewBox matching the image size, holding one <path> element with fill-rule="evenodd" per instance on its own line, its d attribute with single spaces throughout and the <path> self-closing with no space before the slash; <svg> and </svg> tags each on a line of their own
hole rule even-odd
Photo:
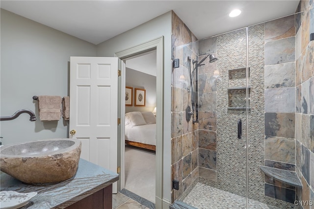
<svg viewBox="0 0 314 209">
<path fill-rule="evenodd" d="M 145 42 L 143 44 L 119 51 L 115 53 L 115 57 L 119 57 L 124 60 L 129 57 L 141 54 L 145 51 L 157 50 L 157 76 L 156 76 L 156 95 L 157 95 L 157 116 L 156 116 L 156 208 L 162 207 L 162 153 L 163 153 L 163 70 L 164 70 L 164 60 L 163 60 L 163 36 L 156 38 L 154 40 Z M 121 113 L 119 117 L 121 118 L 121 138 L 118 139 L 118 166 L 120 164 L 121 173 L 120 173 L 120 184 L 118 183 L 118 190 L 123 189 L 125 186 L 125 164 L 124 164 L 124 155 L 125 155 L 125 71 L 121 73 L 121 82 L 118 84 L 121 88 L 121 95 L 119 95 L 119 100 L 121 100 L 120 108 L 118 111 Z"/>
</svg>

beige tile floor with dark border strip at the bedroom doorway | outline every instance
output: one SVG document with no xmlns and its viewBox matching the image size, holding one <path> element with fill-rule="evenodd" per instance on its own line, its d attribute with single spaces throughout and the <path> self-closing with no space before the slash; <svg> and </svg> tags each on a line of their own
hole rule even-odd
<svg viewBox="0 0 314 209">
<path fill-rule="evenodd" d="M 112 194 L 112 209 L 155 209 L 155 204 L 122 189 L 117 194 Z"/>
</svg>

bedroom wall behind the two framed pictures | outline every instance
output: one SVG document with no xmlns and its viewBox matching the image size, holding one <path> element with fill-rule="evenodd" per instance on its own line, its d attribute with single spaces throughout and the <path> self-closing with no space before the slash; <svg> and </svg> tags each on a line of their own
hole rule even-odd
<svg viewBox="0 0 314 209">
<path fill-rule="evenodd" d="M 126 106 L 126 113 L 132 111 L 153 111 L 156 107 L 156 76 L 149 75 L 130 68 L 126 69 L 126 86 L 132 87 L 132 106 Z M 146 101 L 145 107 L 138 107 L 135 105 L 134 95 L 135 88 L 145 89 Z"/>
</svg>

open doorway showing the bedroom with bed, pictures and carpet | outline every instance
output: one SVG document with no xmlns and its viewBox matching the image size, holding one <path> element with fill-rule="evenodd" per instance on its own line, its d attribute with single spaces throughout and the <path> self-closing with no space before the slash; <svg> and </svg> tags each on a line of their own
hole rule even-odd
<svg viewBox="0 0 314 209">
<path fill-rule="evenodd" d="M 156 202 L 156 52 L 153 50 L 123 60 L 126 64 L 124 188 L 154 204 Z M 144 95 L 138 92 L 144 92 Z M 138 103 L 137 94 L 144 96 L 144 104 Z M 141 123 L 132 120 L 138 116 L 143 116 L 140 117 Z"/>
</svg>

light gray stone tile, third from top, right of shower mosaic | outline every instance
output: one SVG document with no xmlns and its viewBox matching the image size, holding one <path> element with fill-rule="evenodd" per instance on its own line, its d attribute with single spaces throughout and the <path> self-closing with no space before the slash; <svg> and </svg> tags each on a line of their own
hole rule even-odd
<svg viewBox="0 0 314 209">
<path fill-rule="evenodd" d="M 295 86 L 295 63 L 265 66 L 265 89 Z"/>
</svg>

